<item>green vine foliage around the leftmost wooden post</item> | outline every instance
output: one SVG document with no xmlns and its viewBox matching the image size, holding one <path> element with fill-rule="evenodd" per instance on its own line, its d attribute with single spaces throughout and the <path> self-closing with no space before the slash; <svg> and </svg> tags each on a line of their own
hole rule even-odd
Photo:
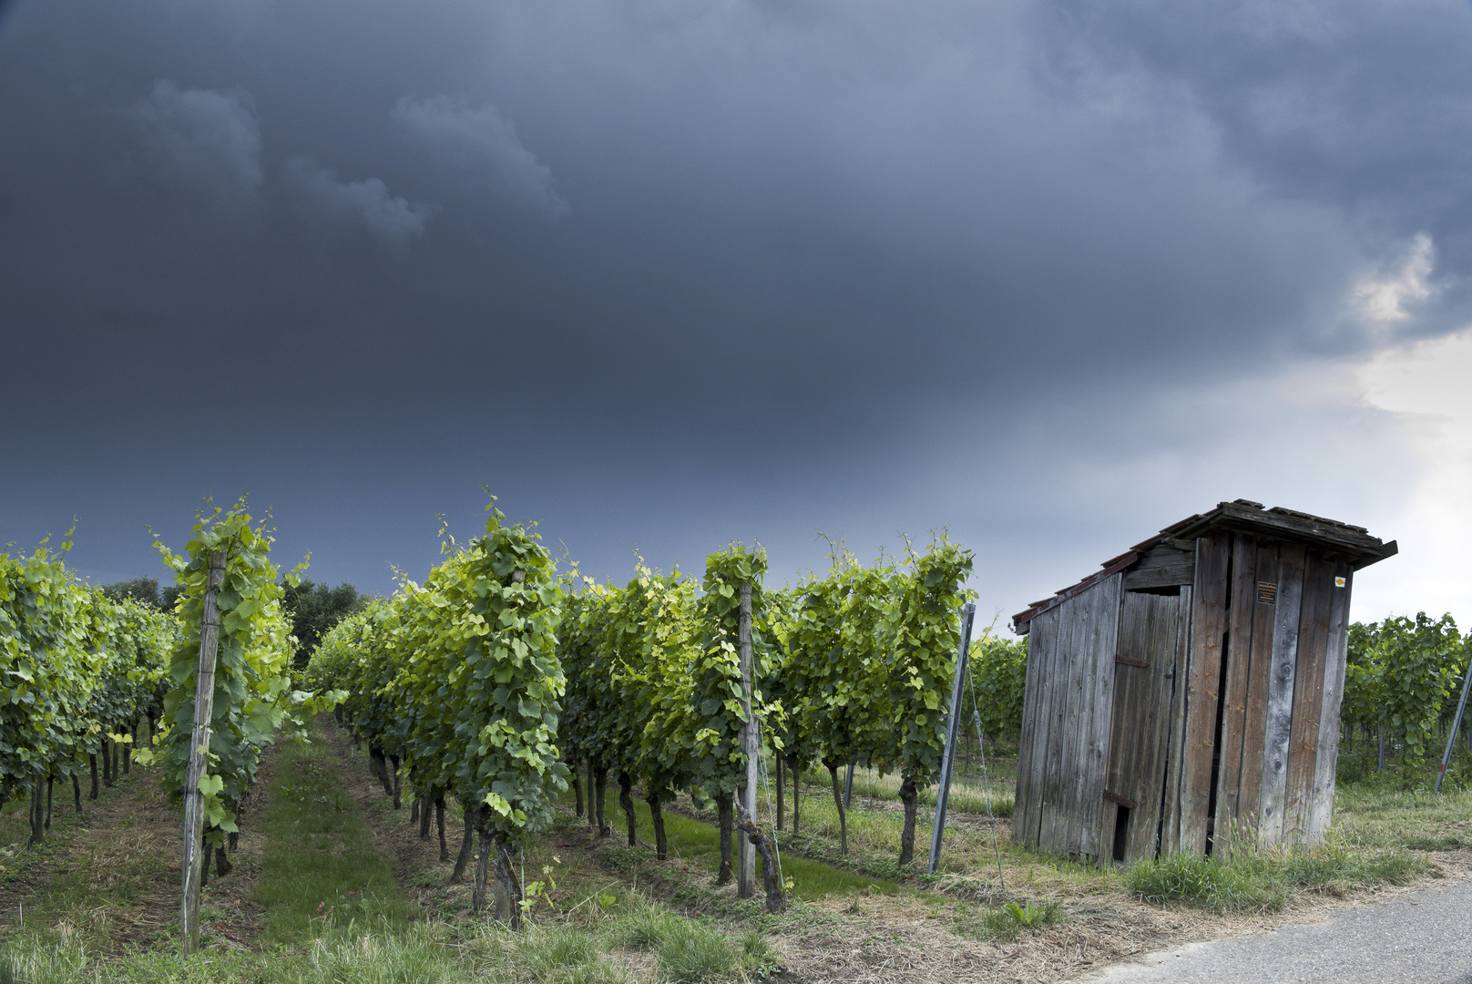
<svg viewBox="0 0 1472 984">
<path fill-rule="evenodd" d="M 209 516 L 199 513 L 184 554 L 159 541 L 153 544 L 183 588 L 177 605 L 183 632 L 169 663 L 163 726 L 155 737 L 163 788 L 174 803 L 183 800 L 188 773 L 209 555 L 225 554 L 209 760 L 199 785 L 205 794 L 206 838 L 216 844 L 237 829 L 236 809 L 255 782 L 262 751 L 277 728 L 299 725 L 305 710 L 300 706 L 309 697 L 293 694 L 287 675 L 293 644 L 281 611 L 277 567 L 269 560 L 271 542 L 265 520 L 253 524 L 241 499 L 230 510 L 215 507 Z"/>
</svg>

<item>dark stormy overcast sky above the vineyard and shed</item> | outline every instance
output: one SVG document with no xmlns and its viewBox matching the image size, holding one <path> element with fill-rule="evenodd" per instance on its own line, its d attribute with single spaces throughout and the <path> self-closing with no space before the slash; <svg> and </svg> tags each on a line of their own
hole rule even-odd
<svg viewBox="0 0 1472 984">
<path fill-rule="evenodd" d="M 1238 496 L 1472 620 L 1466 3 L 0 3 L 0 542 L 392 589 L 932 529 L 983 616 Z"/>
</svg>

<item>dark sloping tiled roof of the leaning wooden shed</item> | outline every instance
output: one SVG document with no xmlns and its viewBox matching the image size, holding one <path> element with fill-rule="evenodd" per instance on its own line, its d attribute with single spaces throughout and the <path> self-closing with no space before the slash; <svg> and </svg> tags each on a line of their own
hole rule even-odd
<svg viewBox="0 0 1472 984">
<path fill-rule="evenodd" d="M 1048 608 L 1063 604 L 1083 591 L 1088 591 L 1110 574 L 1119 573 L 1135 564 L 1145 554 L 1145 551 L 1161 545 L 1179 545 L 1191 549 L 1194 548 L 1192 545 L 1198 536 L 1216 529 L 1241 530 L 1244 533 L 1272 536 L 1273 539 L 1312 544 L 1322 549 L 1347 557 L 1354 566 L 1354 570 L 1367 567 L 1378 560 L 1394 557 L 1398 551 L 1395 541 L 1385 544 L 1379 538 L 1370 536 L 1369 530 L 1363 526 L 1351 526 L 1338 520 L 1323 519 L 1322 516 L 1310 516 L 1309 513 L 1298 513 L 1297 510 L 1285 510 L 1281 505 L 1264 510 L 1262 502 L 1253 502 L 1250 499 L 1220 502 L 1210 513 L 1188 516 L 1179 523 L 1172 523 L 1150 539 L 1135 544 L 1119 557 L 1105 560 L 1100 564 L 1100 570 L 1075 585 L 1063 588 L 1051 598 L 1033 601 L 1025 610 L 1013 616 L 1013 630 L 1026 632 L 1027 623 L 1036 616 L 1042 614 Z"/>
</svg>

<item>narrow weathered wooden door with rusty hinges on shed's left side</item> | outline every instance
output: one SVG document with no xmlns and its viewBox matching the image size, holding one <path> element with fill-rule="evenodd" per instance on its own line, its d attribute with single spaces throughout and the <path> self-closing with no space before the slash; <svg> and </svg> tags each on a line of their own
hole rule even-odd
<svg viewBox="0 0 1472 984">
<path fill-rule="evenodd" d="M 1158 844 L 1172 685 L 1191 602 L 1189 588 L 1176 591 L 1126 591 L 1120 605 L 1101 831 L 1105 856 L 1113 846 L 1117 862 L 1154 857 Z"/>
</svg>

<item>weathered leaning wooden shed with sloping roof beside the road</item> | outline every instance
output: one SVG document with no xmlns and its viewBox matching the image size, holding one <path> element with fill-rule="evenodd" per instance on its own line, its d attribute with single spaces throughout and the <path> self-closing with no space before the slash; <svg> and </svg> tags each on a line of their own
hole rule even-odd
<svg viewBox="0 0 1472 984">
<path fill-rule="evenodd" d="M 1317 841 L 1354 572 L 1393 554 L 1363 527 L 1236 499 L 1014 616 L 1013 837 L 1126 863 Z"/>
</svg>

